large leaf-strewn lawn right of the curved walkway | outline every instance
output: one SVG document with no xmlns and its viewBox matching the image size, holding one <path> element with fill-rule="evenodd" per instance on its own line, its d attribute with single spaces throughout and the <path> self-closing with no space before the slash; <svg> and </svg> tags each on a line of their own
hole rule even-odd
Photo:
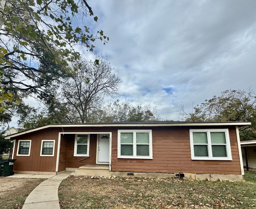
<svg viewBox="0 0 256 209">
<path fill-rule="evenodd" d="M 246 182 L 143 180 L 70 176 L 59 187 L 60 206 L 63 209 L 256 208 L 255 172 L 246 172 Z"/>
</svg>

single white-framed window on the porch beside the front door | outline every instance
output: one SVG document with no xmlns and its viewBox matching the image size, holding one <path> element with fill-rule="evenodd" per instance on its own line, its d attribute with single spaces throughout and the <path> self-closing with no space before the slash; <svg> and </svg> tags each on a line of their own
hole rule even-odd
<svg viewBox="0 0 256 209">
<path fill-rule="evenodd" d="M 89 156 L 90 134 L 75 134 L 74 156 Z"/>
</svg>

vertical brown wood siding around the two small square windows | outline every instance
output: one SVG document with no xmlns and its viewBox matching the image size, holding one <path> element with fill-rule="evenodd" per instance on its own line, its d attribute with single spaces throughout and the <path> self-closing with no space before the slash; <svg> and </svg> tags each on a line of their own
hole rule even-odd
<svg viewBox="0 0 256 209">
<path fill-rule="evenodd" d="M 15 149 L 13 159 L 15 171 L 47 171 L 55 172 L 59 130 L 48 129 L 35 131 L 15 137 Z M 17 156 L 19 140 L 31 140 L 30 156 Z M 40 156 L 42 140 L 55 140 L 54 156 Z"/>
</svg>

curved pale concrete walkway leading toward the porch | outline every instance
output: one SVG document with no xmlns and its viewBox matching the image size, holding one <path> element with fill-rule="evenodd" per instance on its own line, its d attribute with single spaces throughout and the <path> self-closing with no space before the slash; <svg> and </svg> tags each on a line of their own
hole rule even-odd
<svg viewBox="0 0 256 209">
<path fill-rule="evenodd" d="M 60 173 L 40 183 L 27 197 L 22 209 L 59 209 L 58 187 L 70 172 Z"/>
</svg>

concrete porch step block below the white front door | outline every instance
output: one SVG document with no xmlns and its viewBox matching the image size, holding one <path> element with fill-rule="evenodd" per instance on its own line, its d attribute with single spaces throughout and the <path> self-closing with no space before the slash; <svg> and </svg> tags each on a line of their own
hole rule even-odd
<svg viewBox="0 0 256 209">
<path fill-rule="evenodd" d="M 77 176 L 110 176 L 108 165 L 84 165 L 75 170 Z"/>
</svg>

